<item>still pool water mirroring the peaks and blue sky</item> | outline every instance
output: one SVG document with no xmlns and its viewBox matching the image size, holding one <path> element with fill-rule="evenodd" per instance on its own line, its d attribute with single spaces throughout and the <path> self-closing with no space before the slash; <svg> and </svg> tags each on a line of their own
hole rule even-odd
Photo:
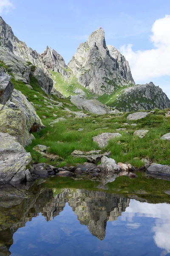
<svg viewBox="0 0 170 256">
<path fill-rule="evenodd" d="M 0 256 L 8 255 L 170 255 L 170 204 L 88 189 L 2 188 Z"/>
</svg>

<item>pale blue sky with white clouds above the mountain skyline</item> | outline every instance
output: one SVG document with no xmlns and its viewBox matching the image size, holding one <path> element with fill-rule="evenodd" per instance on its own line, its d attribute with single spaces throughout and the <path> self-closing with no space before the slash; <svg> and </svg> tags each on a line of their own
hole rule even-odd
<svg viewBox="0 0 170 256">
<path fill-rule="evenodd" d="M 136 84 L 153 81 L 170 98 L 170 0 L 0 0 L 0 15 L 28 47 L 48 45 L 66 64 L 102 27 Z"/>
</svg>

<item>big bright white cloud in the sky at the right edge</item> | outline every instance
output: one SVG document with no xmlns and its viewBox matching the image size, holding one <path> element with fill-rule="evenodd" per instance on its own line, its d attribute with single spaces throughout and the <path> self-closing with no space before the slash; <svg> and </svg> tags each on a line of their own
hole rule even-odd
<svg viewBox="0 0 170 256">
<path fill-rule="evenodd" d="M 150 41 L 153 49 L 133 51 L 132 44 L 120 48 L 135 81 L 170 76 L 170 15 L 153 23 Z"/>
</svg>

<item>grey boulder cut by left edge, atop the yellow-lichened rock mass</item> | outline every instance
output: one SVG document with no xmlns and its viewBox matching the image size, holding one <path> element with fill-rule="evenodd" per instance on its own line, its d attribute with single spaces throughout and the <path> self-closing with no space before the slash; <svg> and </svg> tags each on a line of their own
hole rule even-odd
<svg viewBox="0 0 170 256">
<path fill-rule="evenodd" d="M 5 105 L 14 90 L 11 83 L 11 76 L 5 72 L 4 67 L 0 67 L 0 104 Z"/>
</svg>

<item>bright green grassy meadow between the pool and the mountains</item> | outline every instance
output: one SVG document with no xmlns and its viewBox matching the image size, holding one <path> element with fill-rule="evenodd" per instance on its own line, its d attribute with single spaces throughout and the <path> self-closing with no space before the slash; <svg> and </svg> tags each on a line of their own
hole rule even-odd
<svg viewBox="0 0 170 256">
<path fill-rule="evenodd" d="M 108 114 L 102 116 L 91 114 L 91 116 L 84 119 L 76 119 L 72 114 L 71 117 L 67 118 L 67 115 L 70 113 L 63 111 L 62 108 L 57 109 L 54 106 L 54 109 L 49 109 L 46 107 L 43 101 L 43 94 L 45 93 L 34 83 L 31 83 L 34 90 L 30 90 L 22 82 L 16 82 L 14 79 L 12 79 L 12 82 L 17 90 L 21 90 L 28 96 L 29 101 L 34 102 L 34 107 L 40 118 L 42 119 L 42 115 L 47 117 L 46 119 L 42 119 L 46 128 L 35 132 L 34 136 L 36 140 L 26 148 L 27 151 L 31 152 L 34 163 L 49 161 L 44 157 L 40 157 L 40 155 L 32 149 L 34 145 L 37 144 L 50 146 L 51 153 L 62 157 L 63 163 L 61 163 L 61 165 L 73 165 L 77 162 L 82 163 L 85 159 L 75 159 L 71 156 L 71 152 L 74 151 L 74 149 L 84 151 L 99 149 L 98 145 L 92 141 L 93 136 L 103 132 L 116 132 L 117 128 L 122 128 L 123 123 L 128 122 L 128 125 L 125 126 L 128 133 L 126 133 L 126 131 L 119 131 L 122 137 L 110 141 L 103 151 L 111 151 L 111 157 L 117 162 L 128 162 L 136 167 L 140 167 L 142 162 L 133 160 L 134 157 L 149 157 L 152 162 L 170 164 L 170 142 L 160 140 L 161 135 L 170 132 L 170 118 L 165 117 L 166 110 L 156 110 L 154 114 L 150 114 L 144 119 L 137 120 L 136 127 L 130 125 L 133 121 L 127 121 L 126 117 L 128 113 L 124 113 L 120 116 L 113 115 L 110 119 L 104 119 L 109 117 Z M 39 90 L 41 93 L 35 90 Z M 37 95 L 38 99 L 34 98 L 34 95 Z M 53 97 L 53 99 L 55 99 L 55 97 Z M 76 107 L 67 105 L 67 103 L 70 103 L 69 99 L 57 98 L 56 100 L 62 102 L 64 107 L 74 111 L 77 110 Z M 47 104 L 49 105 L 49 103 L 50 100 Z M 57 114 L 57 117 L 54 117 L 53 113 Z M 58 117 L 65 117 L 67 120 L 56 123 L 54 127 L 49 126 L 49 123 Z M 93 120 L 95 120 L 96 123 L 92 122 Z M 108 129 L 104 130 L 102 129 L 103 127 L 108 127 Z M 79 128 L 84 128 L 84 130 L 77 132 Z M 96 128 L 101 129 L 95 131 Z M 133 136 L 133 132 L 137 129 L 148 129 L 150 131 L 143 139 L 140 139 Z M 120 141 L 120 144 L 117 144 L 118 141 Z"/>
</svg>

